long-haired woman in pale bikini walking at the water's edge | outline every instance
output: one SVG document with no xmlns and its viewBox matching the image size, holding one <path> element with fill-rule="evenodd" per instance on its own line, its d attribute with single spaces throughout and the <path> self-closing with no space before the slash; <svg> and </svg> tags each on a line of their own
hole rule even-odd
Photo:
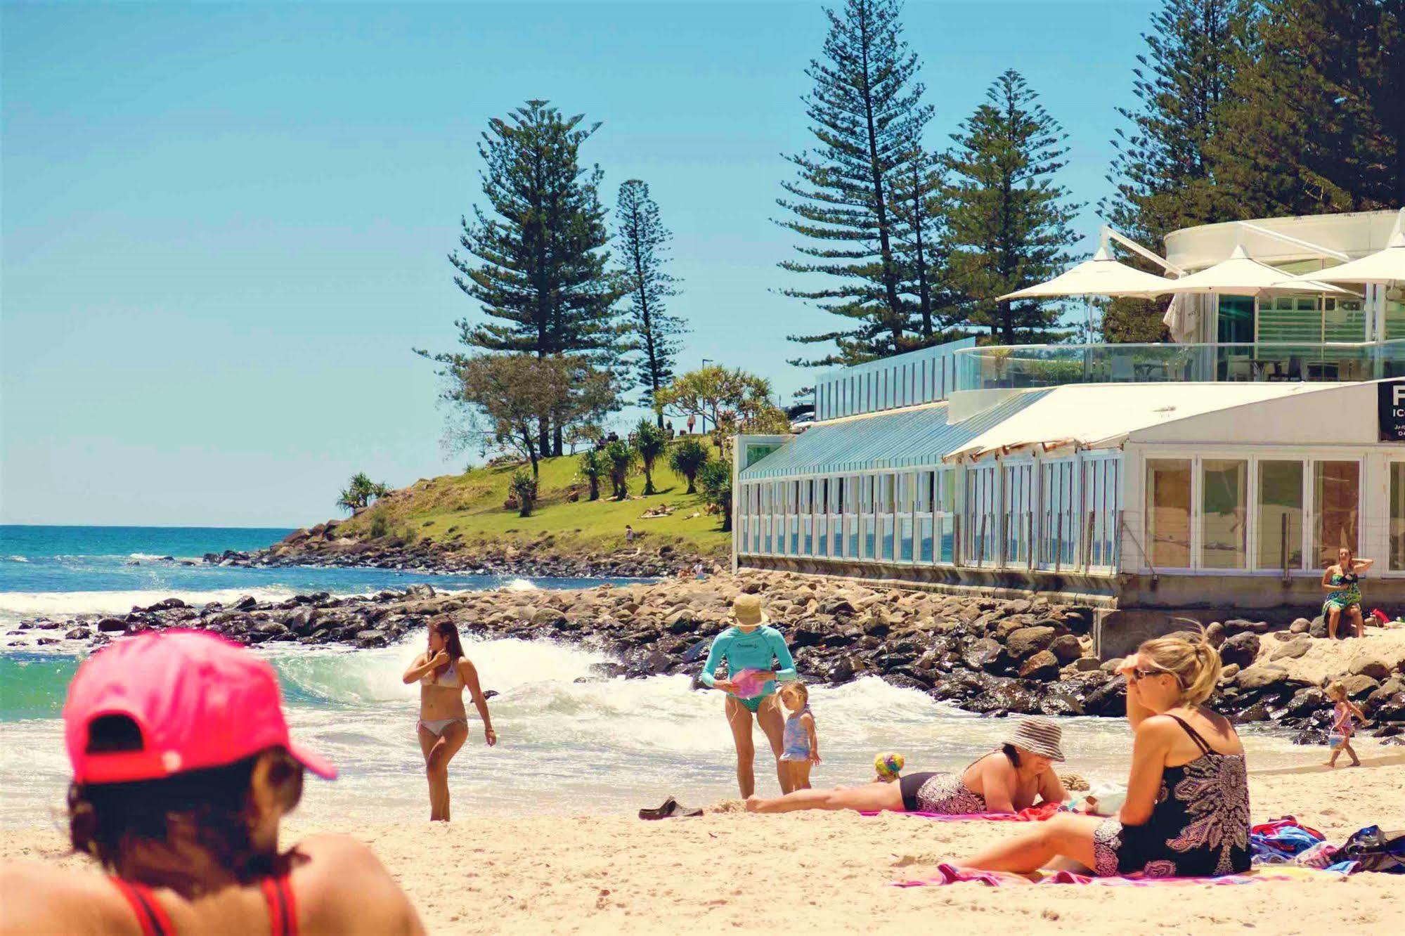
<svg viewBox="0 0 1405 936">
<path fill-rule="evenodd" d="M 416 680 L 420 683 L 420 750 L 430 779 L 430 822 L 448 822 L 448 762 L 468 741 L 465 689 L 483 720 L 483 739 L 489 746 L 497 743 L 478 670 L 464 656 L 458 628 L 448 617 L 430 621 L 429 649 L 405 670 L 406 686 Z"/>
</svg>

